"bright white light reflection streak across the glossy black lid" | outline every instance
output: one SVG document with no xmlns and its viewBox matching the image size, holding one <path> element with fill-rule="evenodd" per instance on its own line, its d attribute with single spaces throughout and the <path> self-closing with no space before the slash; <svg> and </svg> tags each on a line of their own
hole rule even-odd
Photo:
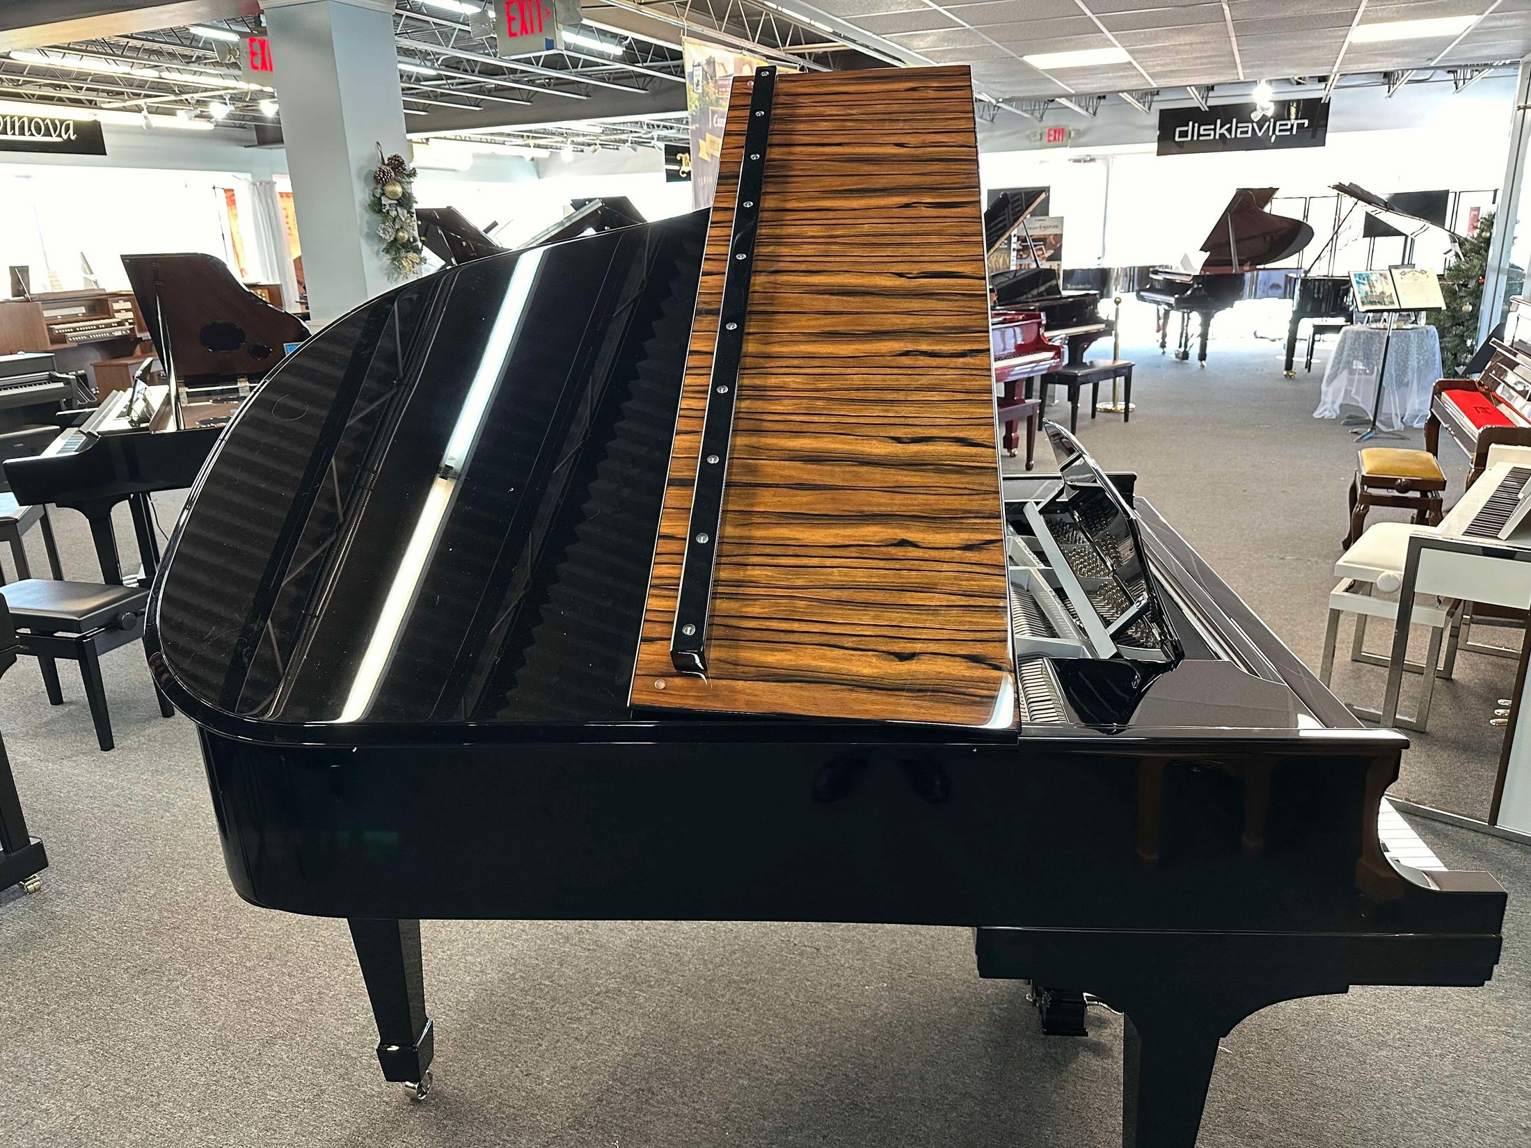
<svg viewBox="0 0 1531 1148">
<path fill-rule="evenodd" d="M 358 721 L 377 696 L 378 684 L 383 681 L 383 673 L 387 670 L 398 644 L 398 632 L 404 626 L 426 566 L 430 563 L 430 556 L 441 537 L 441 525 L 447 520 L 458 481 L 462 478 L 462 471 L 473 456 L 473 447 L 478 444 L 479 432 L 484 429 L 490 400 L 499 389 L 501 375 L 505 372 L 510 352 L 521 334 L 527 300 L 531 295 L 531 286 L 542 266 L 545 251 L 547 248 L 533 248 L 516 260 L 516 269 L 511 271 L 510 285 L 505 288 L 505 300 L 501 303 L 495 326 L 488 332 L 488 343 L 479 358 L 478 372 L 473 375 L 468 393 L 462 400 L 462 410 L 458 412 L 456 426 L 452 427 L 452 436 L 441 455 L 441 468 L 426 493 L 426 505 L 419 508 L 409 546 L 406 546 L 404 557 L 393 574 L 393 585 L 389 586 L 387 597 L 383 600 L 383 609 L 372 628 L 361 664 L 357 666 L 351 693 L 335 719 L 338 722 Z"/>
</svg>

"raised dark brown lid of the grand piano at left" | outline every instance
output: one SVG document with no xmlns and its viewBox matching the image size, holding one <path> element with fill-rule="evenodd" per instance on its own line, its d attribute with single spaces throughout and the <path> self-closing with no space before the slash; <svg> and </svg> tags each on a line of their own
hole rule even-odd
<svg viewBox="0 0 1531 1148">
<path fill-rule="evenodd" d="M 245 291 L 222 259 L 202 253 L 122 256 L 155 354 L 181 383 L 259 380 L 302 343 L 297 315 Z"/>
</svg>

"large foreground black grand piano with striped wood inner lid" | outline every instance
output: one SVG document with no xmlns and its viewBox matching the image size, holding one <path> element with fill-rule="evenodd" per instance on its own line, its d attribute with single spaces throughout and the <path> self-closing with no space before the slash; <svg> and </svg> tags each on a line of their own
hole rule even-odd
<svg viewBox="0 0 1531 1148">
<path fill-rule="evenodd" d="M 387 1081 L 423 917 L 966 926 L 1049 1030 L 1125 1012 L 1128 1148 L 1258 1009 L 1493 974 L 1503 891 L 1379 839 L 1405 739 L 1067 432 L 1001 482 L 974 139 L 966 67 L 762 67 L 710 214 L 400 286 L 228 426 L 150 666 Z"/>
</svg>

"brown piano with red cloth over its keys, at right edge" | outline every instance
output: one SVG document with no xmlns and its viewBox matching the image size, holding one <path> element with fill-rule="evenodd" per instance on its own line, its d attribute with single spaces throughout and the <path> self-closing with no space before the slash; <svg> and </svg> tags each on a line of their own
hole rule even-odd
<svg viewBox="0 0 1531 1148">
<path fill-rule="evenodd" d="M 1425 450 L 1441 453 L 1441 429 L 1473 459 L 1467 485 L 1488 467 L 1496 442 L 1531 447 L 1531 300 L 1510 300 L 1505 337 L 1476 380 L 1442 378 L 1430 396 Z"/>
</svg>

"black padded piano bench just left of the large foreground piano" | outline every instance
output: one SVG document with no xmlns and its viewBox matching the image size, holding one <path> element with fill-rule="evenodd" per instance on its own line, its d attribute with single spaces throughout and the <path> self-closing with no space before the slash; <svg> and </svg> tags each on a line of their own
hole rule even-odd
<svg viewBox="0 0 1531 1148">
<path fill-rule="evenodd" d="M 0 594 L 11 609 L 20 652 L 37 658 L 43 670 L 51 704 L 64 704 L 57 660 L 80 663 L 96 741 L 103 750 L 110 750 L 112 718 L 106 709 L 100 657 L 144 635 L 149 588 L 23 579 L 0 586 Z M 159 696 L 159 712 L 167 718 L 175 713 L 164 696 Z"/>
</svg>

